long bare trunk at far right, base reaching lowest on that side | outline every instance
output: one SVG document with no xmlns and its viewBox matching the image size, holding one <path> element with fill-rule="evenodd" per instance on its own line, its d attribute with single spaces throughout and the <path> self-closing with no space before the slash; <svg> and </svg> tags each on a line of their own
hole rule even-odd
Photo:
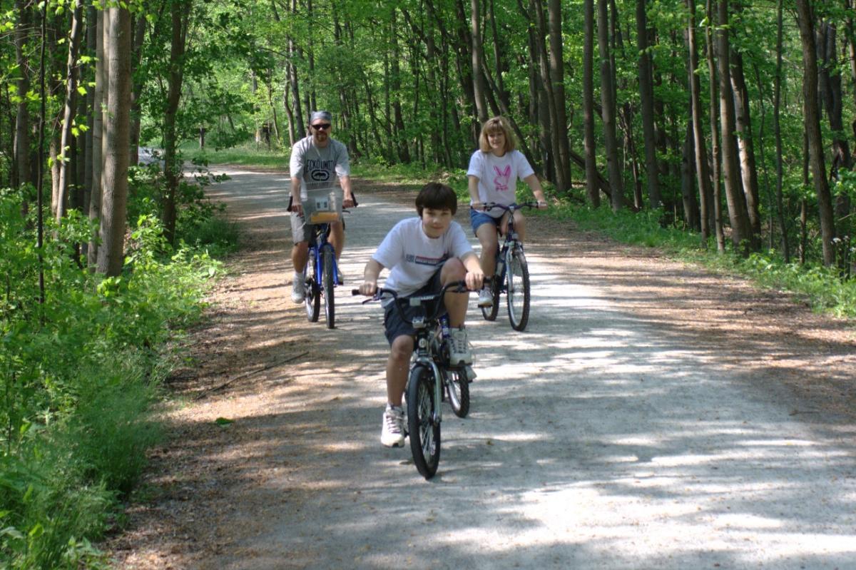
<svg viewBox="0 0 856 570">
<path fill-rule="evenodd" d="M 832 213 L 832 196 L 826 180 L 823 161 L 823 137 L 820 132 L 820 108 L 817 103 L 817 50 L 815 45 L 814 15 L 809 0 L 796 0 L 797 24 L 803 48 L 803 96 L 805 97 L 805 134 L 811 152 L 811 175 L 817 193 L 817 209 L 823 246 L 823 264 L 835 264 L 835 217 Z"/>
</svg>

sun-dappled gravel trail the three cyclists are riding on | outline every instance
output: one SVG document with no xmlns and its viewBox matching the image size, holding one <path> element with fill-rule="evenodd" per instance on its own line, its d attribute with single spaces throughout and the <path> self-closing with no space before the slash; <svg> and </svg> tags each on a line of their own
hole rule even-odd
<svg viewBox="0 0 856 570">
<path fill-rule="evenodd" d="M 358 194 L 326 330 L 288 300 L 286 175 L 229 174 L 212 193 L 247 248 L 173 377 L 117 567 L 856 568 L 846 324 L 539 221 L 529 328 L 471 304 L 472 412 L 444 414 L 425 482 L 378 441 L 381 311 L 344 294 L 412 195 Z"/>
</svg>

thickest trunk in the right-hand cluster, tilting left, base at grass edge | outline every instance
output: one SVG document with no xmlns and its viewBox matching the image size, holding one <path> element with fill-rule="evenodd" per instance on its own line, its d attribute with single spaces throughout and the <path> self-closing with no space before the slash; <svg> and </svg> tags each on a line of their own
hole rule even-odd
<svg viewBox="0 0 856 570">
<path fill-rule="evenodd" d="M 717 6 L 719 30 L 717 30 L 719 64 L 719 115 L 722 137 L 722 174 L 725 181 L 725 199 L 728 202 L 728 218 L 731 221 L 731 243 L 734 251 L 746 255 L 752 229 L 746 211 L 746 196 L 740 181 L 737 144 L 734 140 L 734 97 L 731 92 L 731 69 L 728 42 L 728 0 L 719 0 Z"/>
</svg>

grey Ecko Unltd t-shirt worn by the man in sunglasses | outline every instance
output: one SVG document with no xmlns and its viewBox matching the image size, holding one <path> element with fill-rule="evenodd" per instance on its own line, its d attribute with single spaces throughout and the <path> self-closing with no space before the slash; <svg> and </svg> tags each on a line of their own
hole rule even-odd
<svg viewBox="0 0 856 570">
<path fill-rule="evenodd" d="M 350 175 L 348 147 L 338 140 L 328 139 L 324 147 L 318 147 L 312 136 L 300 139 L 291 148 L 289 173 L 300 178 L 300 199 L 306 199 L 306 189 L 328 188 L 336 185 L 336 175 Z"/>
</svg>

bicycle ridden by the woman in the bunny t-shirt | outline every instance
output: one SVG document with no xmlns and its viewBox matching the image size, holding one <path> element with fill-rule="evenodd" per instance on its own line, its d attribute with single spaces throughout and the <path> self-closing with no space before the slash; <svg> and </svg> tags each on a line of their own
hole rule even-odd
<svg viewBox="0 0 856 570">
<path fill-rule="evenodd" d="M 508 305 L 508 321 L 514 330 L 526 329 L 529 322 L 529 303 L 531 291 L 529 287 L 529 265 L 523 252 L 523 243 L 514 231 L 514 211 L 520 208 L 538 208 L 538 202 L 504 205 L 496 202 L 484 204 L 484 211 L 501 208 L 508 211 L 508 231 L 505 240 L 496 248 L 496 269 L 491 280 L 490 294 L 493 298 L 491 306 L 481 308 L 485 320 L 495 321 L 499 312 L 499 295 L 505 294 Z"/>
</svg>

